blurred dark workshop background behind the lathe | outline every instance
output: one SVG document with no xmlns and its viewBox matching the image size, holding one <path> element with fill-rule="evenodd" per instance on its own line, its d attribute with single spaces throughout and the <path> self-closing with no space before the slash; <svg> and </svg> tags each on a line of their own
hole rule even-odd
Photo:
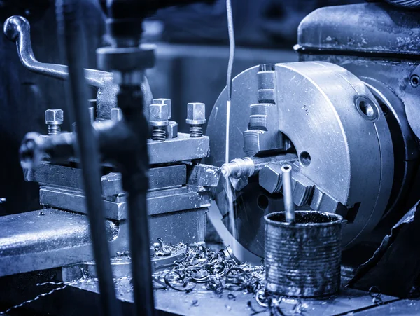
<svg viewBox="0 0 420 316">
<path fill-rule="evenodd" d="M 95 50 L 106 45 L 104 13 L 97 0 L 83 3 L 87 64 L 96 68 Z M 234 74 L 255 64 L 296 61 L 297 26 L 321 6 L 354 0 L 232 0 L 237 53 Z M 41 62 L 64 63 L 59 54 L 54 1 L 0 1 L 0 20 L 23 15 L 31 23 L 34 55 Z M 186 103 L 205 102 L 207 116 L 226 82 L 228 31 L 225 0 L 166 8 L 144 23 L 145 41 L 158 44 L 158 62 L 148 71 L 155 97 L 172 99 L 173 119 L 186 130 Z M 18 149 L 27 132 L 46 133 L 44 111 L 64 110 L 64 83 L 27 71 L 15 44 L 0 35 L 0 204 L 1 214 L 37 209 L 38 184 L 23 179 Z"/>
</svg>

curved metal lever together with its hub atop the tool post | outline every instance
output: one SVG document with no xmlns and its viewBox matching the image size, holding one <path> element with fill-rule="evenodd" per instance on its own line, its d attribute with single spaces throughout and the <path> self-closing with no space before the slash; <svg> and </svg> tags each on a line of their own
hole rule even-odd
<svg viewBox="0 0 420 316">
<path fill-rule="evenodd" d="M 13 15 L 4 22 L 3 32 L 10 41 L 16 43 L 18 56 L 25 68 L 36 74 L 67 80 L 69 69 L 61 64 L 48 64 L 38 62 L 34 56 L 31 46 L 30 26 L 26 18 Z M 97 118 L 111 119 L 111 109 L 116 107 L 118 85 L 113 82 L 111 72 L 99 71 L 95 69 L 85 69 L 85 81 L 88 85 L 97 88 Z M 143 92 L 144 104 L 151 104 L 153 99 L 151 88 L 147 78 L 141 78 L 141 90 Z M 148 116 L 148 111 L 145 111 Z"/>
</svg>

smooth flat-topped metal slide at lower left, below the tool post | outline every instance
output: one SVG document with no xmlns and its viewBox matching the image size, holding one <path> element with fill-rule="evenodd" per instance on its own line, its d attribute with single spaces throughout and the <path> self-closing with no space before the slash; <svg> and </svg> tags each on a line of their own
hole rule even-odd
<svg viewBox="0 0 420 316">
<path fill-rule="evenodd" d="M 87 217 L 43 209 L 0 217 L 0 275 L 43 270 L 92 259 Z M 108 240 L 118 227 L 106 221 Z"/>
</svg>

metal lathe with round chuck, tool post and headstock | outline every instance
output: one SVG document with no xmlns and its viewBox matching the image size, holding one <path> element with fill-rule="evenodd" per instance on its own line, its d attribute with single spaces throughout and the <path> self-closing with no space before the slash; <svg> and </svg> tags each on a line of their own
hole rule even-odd
<svg viewBox="0 0 420 316">
<path fill-rule="evenodd" d="M 132 98 L 144 104 L 142 112 L 150 125 L 142 132 L 148 135 L 144 143 L 149 159 L 145 205 L 151 249 L 162 241 L 204 244 L 212 200 L 229 226 L 230 203 L 223 174 L 235 193 L 235 238 L 262 257 L 263 217 L 283 209 L 281 166 L 286 163 L 293 166 L 297 208 L 344 217 L 343 249 L 369 240 L 375 228 L 385 227 L 388 233 L 420 199 L 419 18 L 416 11 L 385 3 L 325 7 L 309 14 L 298 29 L 295 50 L 299 62 L 255 65 L 233 79 L 230 163 L 225 163 L 225 90 L 212 109 L 211 104 L 200 102 L 182 105 L 190 132 L 181 133 L 171 121 L 172 107 L 181 105 L 156 98 L 167 96 L 152 95 L 144 77 L 144 69 L 153 65 L 148 61 L 153 60 L 153 48 L 140 46 L 134 52 L 143 61 L 140 70 L 136 68 L 139 60 L 130 55 L 135 45 L 125 48 L 121 40 L 123 48 L 117 53 L 99 49 L 99 64 L 112 72 L 83 72 L 85 81 L 97 88 L 97 98 L 90 101 L 85 114 L 89 114 L 102 155 L 101 199 L 114 274 L 130 275 L 130 266 L 135 266 L 130 263 L 130 228 L 136 226 L 127 220 L 134 207 L 128 188 L 137 186 L 140 178 L 125 183 L 132 170 L 125 163 L 136 154 L 126 149 L 132 145 L 125 144 L 127 130 L 113 130 L 139 123 L 130 123 L 132 107 L 120 106 L 124 102 L 121 91 L 132 83 L 141 86 L 137 99 Z M 111 29 L 120 32 L 117 24 Z M 52 78 L 76 78 L 69 76 L 71 68 L 38 62 L 29 31 L 29 23 L 20 16 L 4 24 L 22 64 Z M 119 49 L 118 43 L 113 47 Z M 132 69 L 139 71 L 130 72 Z M 206 111 L 211 112 L 208 123 Z M 61 109 L 48 109 L 48 133 L 28 131 L 22 142 L 25 179 L 40 184 L 44 208 L 0 217 L 0 276 L 51 269 L 58 269 L 60 280 L 66 281 L 80 277 L 83 269 L 94 275 L 86 217 L 89 203 L 78 158 L 83 146 L 76 140 L 80 122 L 73 125 L 73 131 L 62 131 L 65 115 Z M 118 157 L 113 156 L 111 151 L 118 148 L 123 149 L 118 150 Z M 153 255 L 151 266 L 174 261 L 176 256 Z"/>
</svg>

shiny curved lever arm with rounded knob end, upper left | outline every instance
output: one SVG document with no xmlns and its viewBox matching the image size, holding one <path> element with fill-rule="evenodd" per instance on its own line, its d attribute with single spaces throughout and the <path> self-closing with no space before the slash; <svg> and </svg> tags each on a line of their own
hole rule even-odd
<svg viewBox="0 0 420 316">
<path fill-rule="evenodd" d="M 4 22 L 3 32 L 10 41 L 16 42 L 20 61 L 27 69 L 52 78 L 67 80 L 69 76 L 67 66 L 62 64 L 45 64 L 36 60 L 31 45 L 30 29 L 27 19 L 19 15 L 13 15 Z M 111 79 L 112 74 L 106 71 L 85 69 L 85 78 L 89 85 L 102 88 L 104 79 Z"/>
</svg>

